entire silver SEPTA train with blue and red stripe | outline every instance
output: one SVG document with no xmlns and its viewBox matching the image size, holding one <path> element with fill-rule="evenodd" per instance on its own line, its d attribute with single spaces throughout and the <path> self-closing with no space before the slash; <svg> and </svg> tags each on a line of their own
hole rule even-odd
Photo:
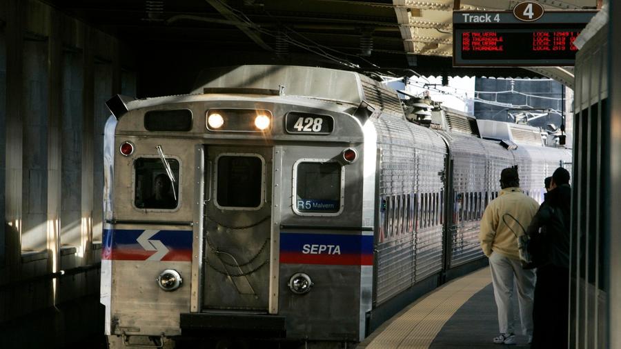
<svg viewBox="0 0 621 349">
<path fill-rule="evenodd" d="M 440 106 L 408 121 L 397 92 L 355 72 L 242 66 L 199 81 L 107 103 L 110 348 L 361 341 L 484 265 L 479 220 L 502 168 L 541 201 L 571 161 L 526 126 Z"/>
</svg>

